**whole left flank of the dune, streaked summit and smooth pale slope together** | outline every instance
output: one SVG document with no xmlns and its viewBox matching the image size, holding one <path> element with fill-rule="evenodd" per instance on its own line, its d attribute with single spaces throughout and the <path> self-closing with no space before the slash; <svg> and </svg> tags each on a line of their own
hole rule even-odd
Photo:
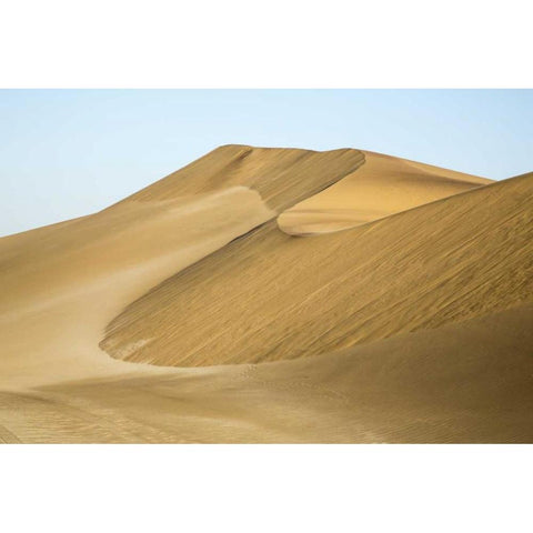
<svg viewBox="0 0 533 533">
<path fill-rule="evenodd" d="M 98 348 L 113 316 L 170 275 L 274 219 L 278 211 L 260 191 L 283 208 L 362 160 L 358 150 L 221 147 L 99 213 L 0 239 L 0 389 L 160 372 L 124 365 Z M 130 350 L 149 343 L 138 340 Z"/>
</svg>

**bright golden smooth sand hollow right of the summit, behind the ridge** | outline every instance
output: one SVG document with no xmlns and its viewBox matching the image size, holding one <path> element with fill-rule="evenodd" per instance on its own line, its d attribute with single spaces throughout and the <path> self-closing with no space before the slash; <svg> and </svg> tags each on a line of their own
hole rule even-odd
<svg viewBox="0 0 533 533">
<path fill-rule="evenodd" d="M 353 228 L 491 180 L 364 151 L 364 164 L 325 191 L 284 211 L 279 227 L 292 235 Z"/>
</svg>

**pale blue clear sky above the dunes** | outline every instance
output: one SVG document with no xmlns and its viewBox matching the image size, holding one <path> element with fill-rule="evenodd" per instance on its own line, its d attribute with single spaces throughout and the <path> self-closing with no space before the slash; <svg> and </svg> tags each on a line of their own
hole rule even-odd
<svg viewBox="0 0 533 533">
<path fill-rule="evenodd" d="M 220 144 L 533 170 L 533 90 L 0 90 L 0 235 L 102 209 Z"/>
</svg>

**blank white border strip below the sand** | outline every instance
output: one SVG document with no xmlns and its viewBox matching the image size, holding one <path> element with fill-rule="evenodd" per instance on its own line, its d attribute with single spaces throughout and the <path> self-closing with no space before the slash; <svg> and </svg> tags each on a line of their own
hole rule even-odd
<svg viewBox="0 0 533 533">
<path fill-rule="evenodd" d="M 531 531 L 530 446 L 37 445 L 4 531 Z"/>
</svg>

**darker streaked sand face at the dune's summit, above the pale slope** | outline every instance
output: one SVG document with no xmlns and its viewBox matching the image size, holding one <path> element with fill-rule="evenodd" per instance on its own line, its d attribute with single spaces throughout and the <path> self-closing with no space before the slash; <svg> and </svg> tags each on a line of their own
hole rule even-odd
<svg viewBox="0 0 533 533">
<path fill-rule="evenodd" d="M 228 144 L 122 202 L 169 200 L 244 185 L 280 212 L 332 185 L 363 162 L 363 153 L 353 149 L 315 152 Z"/>
</svg>

